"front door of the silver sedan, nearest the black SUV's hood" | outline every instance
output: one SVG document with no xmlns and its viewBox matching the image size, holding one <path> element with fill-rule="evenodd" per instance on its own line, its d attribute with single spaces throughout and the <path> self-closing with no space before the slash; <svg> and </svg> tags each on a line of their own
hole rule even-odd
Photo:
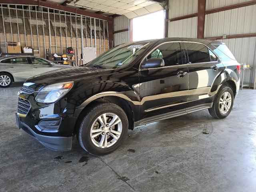
<svg viewBox="0 0 256 192">
<path fill-rule="evenodd" d="M 56 66 L 52 65 L 50 62 L 41 58 L 30 57 L 30 61 L 33 66 L 33 76 L 58 69 Z"/>
</svg>

